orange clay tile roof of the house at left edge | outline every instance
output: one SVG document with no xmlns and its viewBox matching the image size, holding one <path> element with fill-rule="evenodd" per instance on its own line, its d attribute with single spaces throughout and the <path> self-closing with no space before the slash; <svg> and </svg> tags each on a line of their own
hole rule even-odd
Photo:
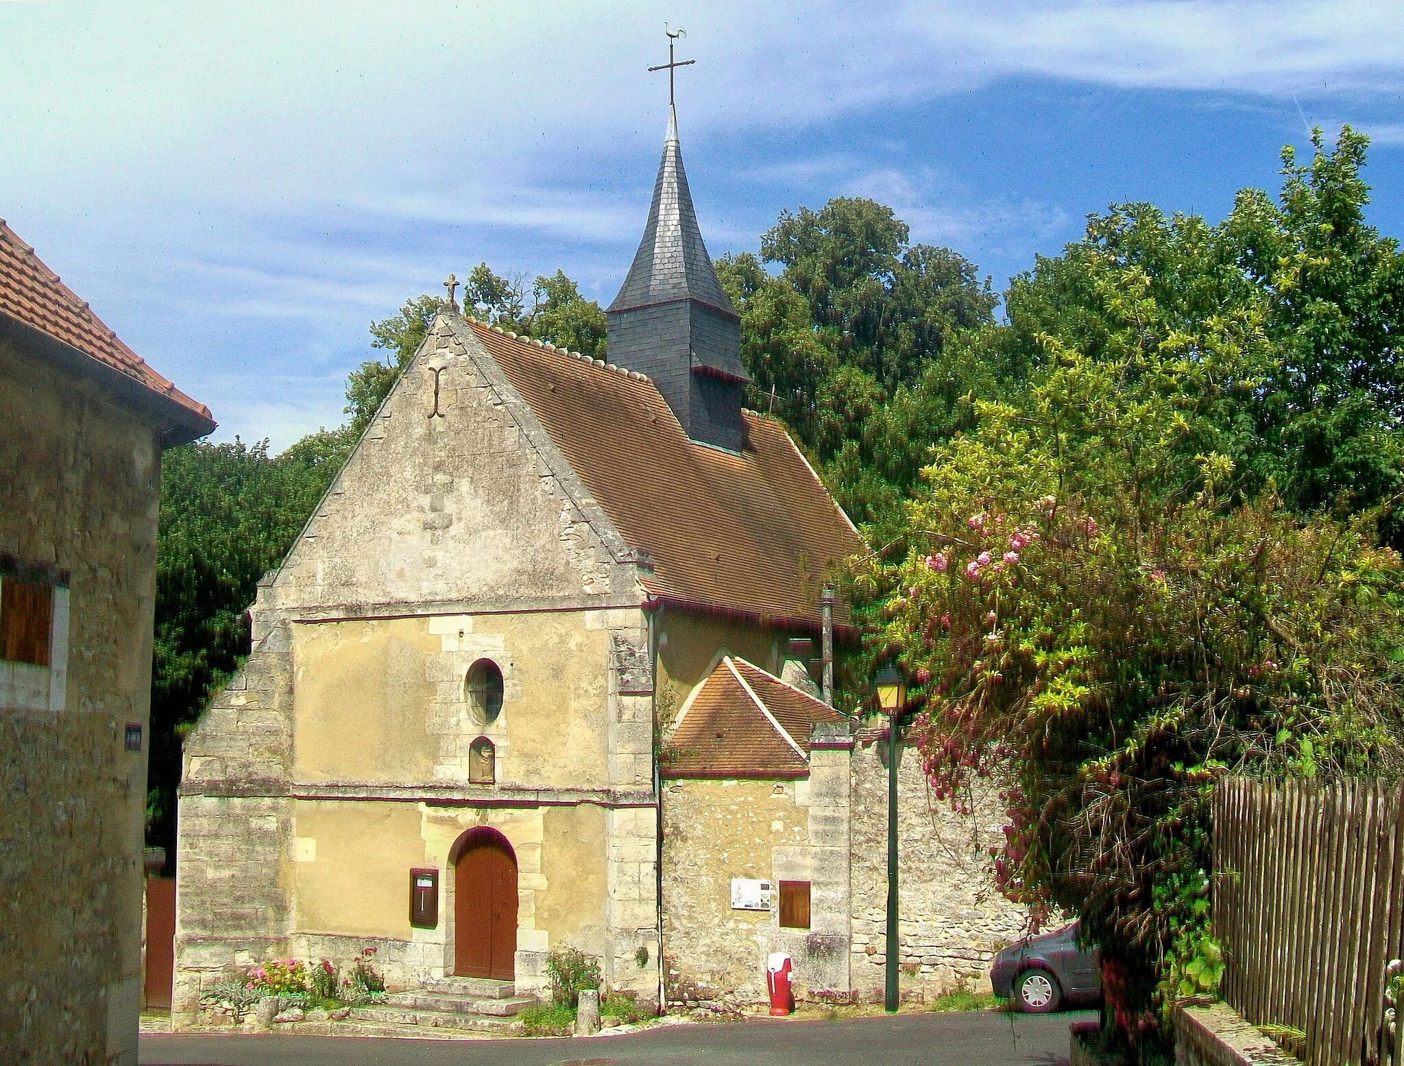
<svg viewBox="0 0 1404 1066">
<path fill-rule="evenodd" d="M 20 235 L 0 219 L 0 315 L 125 374 L 164 400 L 184 407 L 197 423 L 208 423 L 199 434 L 215 428 L 209 407 L 192 400 L 153 371 L 135 351 L 93 313 L 88 305 L 44 265 Z"/>
</svg>

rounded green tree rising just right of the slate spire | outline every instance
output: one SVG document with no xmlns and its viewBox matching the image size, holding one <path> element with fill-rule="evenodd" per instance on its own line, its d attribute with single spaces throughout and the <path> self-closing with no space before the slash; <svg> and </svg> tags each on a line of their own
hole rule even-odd
<svg viewBox="0 0 1404 1066">
<path fill-rule="evenodd" d="M 997 298 L 949 249 L 908 244 L 870 199 L 782 212 L 717 275 L 741 316 L 747 402 L 783 419 L 855 521 L 889 529 L 960 400 L 1002 367 L 970 348 Z M 764 264 L 781 267 L 769 272 Z"/>
</svg>

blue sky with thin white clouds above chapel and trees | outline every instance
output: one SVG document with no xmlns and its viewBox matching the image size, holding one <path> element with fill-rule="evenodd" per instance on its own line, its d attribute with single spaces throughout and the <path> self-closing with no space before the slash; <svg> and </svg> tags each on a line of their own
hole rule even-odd
<svg viewBox="0 0 1404 1066">
<path fill-rule="evenodd" d="M 1397 3 L 77 3 L 0 0 L 0 218 L 216 440 L 343 420 L 366 326 L 486 260 L 602 303 L 688 31 L 684 159 L 713 256 L 869 195 L 1002 288 L 1084 216 L 1219 219 L 1278 152 L 1375 138 L 1404 236 Z"/>
</svg>

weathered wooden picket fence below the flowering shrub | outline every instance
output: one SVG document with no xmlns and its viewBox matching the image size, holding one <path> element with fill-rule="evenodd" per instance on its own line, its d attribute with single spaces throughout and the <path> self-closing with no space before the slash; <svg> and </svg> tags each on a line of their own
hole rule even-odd
<svg viewBox="0 0 1404 1066">
<path fill-rule="evenodd" d="M 1404 787 L 1231 778 L 1213 848 L 1224 1000 L 1303 1031 L 1293 1051 L 1311 1066 L 1404 1066 L 1386 1014 L 1404 955 Z"/>
</svg>

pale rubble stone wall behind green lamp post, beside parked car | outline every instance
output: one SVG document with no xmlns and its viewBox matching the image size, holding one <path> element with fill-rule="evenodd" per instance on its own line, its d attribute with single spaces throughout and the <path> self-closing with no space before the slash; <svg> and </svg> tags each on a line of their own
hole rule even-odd
<svg viewBox="0 0 1404 1066">
<path fill-rule="evenodd" d="M 882 756 L 882 757 L 879 757 Z M 880 1000 L 886 987 L 887 767 L 886 742 L 854 749 L 852 987 Z M 931 999 L 965 983 L 990 990 L 990 959 L 1025 933 L 1025 912 L 994 889 L 990 848 L 1002 841 L 991 792 L 976 813 L 938 802 L 907 750 L 897 779 L 897 875 L 903 997 Z"/>
</svg>

